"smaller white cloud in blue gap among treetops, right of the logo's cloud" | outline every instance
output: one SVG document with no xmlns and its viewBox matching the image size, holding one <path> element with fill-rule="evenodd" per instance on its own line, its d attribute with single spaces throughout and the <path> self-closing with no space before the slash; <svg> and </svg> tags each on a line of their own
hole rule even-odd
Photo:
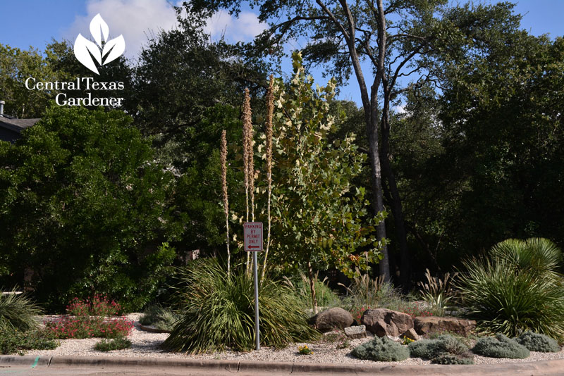
<svg viewBox="0 0 564 376">
<path fill-rule="evenodd" d="M 267 27 L 266 23 L 259 22 L 255 13 L 243 11 L 235 18 L 227 11 L 219 11 L 209 18 L 204 32 L 214 40 L 225 35 L 227 42 L 250 42 Z"/>
</svg>

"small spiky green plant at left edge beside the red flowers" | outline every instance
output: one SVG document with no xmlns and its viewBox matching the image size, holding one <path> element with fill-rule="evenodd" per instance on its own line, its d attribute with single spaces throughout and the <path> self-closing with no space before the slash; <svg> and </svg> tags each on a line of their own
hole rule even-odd
<svg viewBox="0 0 564 376">
<path fill-rule="evenodd" d="M 10 327 L 19 331 L 37 329 L 35 316 L 42 309 L 27 294 L 4 294 L 0 291 L 0 327 Z"/>
</svg>

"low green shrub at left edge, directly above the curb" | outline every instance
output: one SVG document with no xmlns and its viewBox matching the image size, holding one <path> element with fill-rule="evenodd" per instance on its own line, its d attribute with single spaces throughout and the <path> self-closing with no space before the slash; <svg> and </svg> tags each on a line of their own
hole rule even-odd
<svg viewBox="0 0 564 376">
<path fill-rule="evenodd" d="M 0 325 L 0 353 L 2 355 L 19 353 L 27 350 L 51 350 L 59 346 L 59 341 L 49 339 L 41 330 L 21 332 L 13 327 Z"/>
</svg>

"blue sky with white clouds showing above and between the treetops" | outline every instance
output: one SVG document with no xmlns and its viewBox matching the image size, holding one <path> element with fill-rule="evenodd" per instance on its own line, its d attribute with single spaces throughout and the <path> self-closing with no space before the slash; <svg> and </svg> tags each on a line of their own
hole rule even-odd
<svg viewBox="0 0 564 376">
<path fill-rule="evenodd" d="M 524 15 L 522 28 L 532 35 L 548 33 L 552 38 L 564 35 L 564 0 L 514 2 L 515 11 Z M 32 46 L 43 51 L 52 39 L 74 41 L 78 33 L 90 36 L 90 20 L 100 13 L 109 25 L 109 37 L 123 35 L 125 56 L 135 59 L 148 36 L 175 27 L 173 5 L 181 3 L 178 0 L 0 0 L 0 43 L 19 49 Z M 226 11 L 216 13 L 207 20 L 206 31 L 212 39 L 225 35 L 229 42 L 250 42 L 266 28 L 255 13 L 250 8 L 244 9 L 239 18 L 231 17 Z M 288 70 L 289 67 L 288 64 Z M 312 73 L 316 82 L 326 83 L 320 70 Z M 341 89 L 340 97 L 360 103 L 360 92 L 354 82 Z"/>
</svg>

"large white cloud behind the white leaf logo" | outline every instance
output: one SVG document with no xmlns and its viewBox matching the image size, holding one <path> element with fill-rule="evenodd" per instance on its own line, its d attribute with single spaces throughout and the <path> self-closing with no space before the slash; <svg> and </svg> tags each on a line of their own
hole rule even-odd
<svg viewBox="0 0 564 376">
<path fill-rule="evenodd" d="M 79 32 L 90 37 L 90 20 L 100 13 L 109 25 L 110 37 L 123 35 L 128 58 L 137 57 L 147 35 L 176 25 L 176 12 L 166 0 L 87 0 L 86 11 L 63 35 L 73 42 Z"/>
</svg>

